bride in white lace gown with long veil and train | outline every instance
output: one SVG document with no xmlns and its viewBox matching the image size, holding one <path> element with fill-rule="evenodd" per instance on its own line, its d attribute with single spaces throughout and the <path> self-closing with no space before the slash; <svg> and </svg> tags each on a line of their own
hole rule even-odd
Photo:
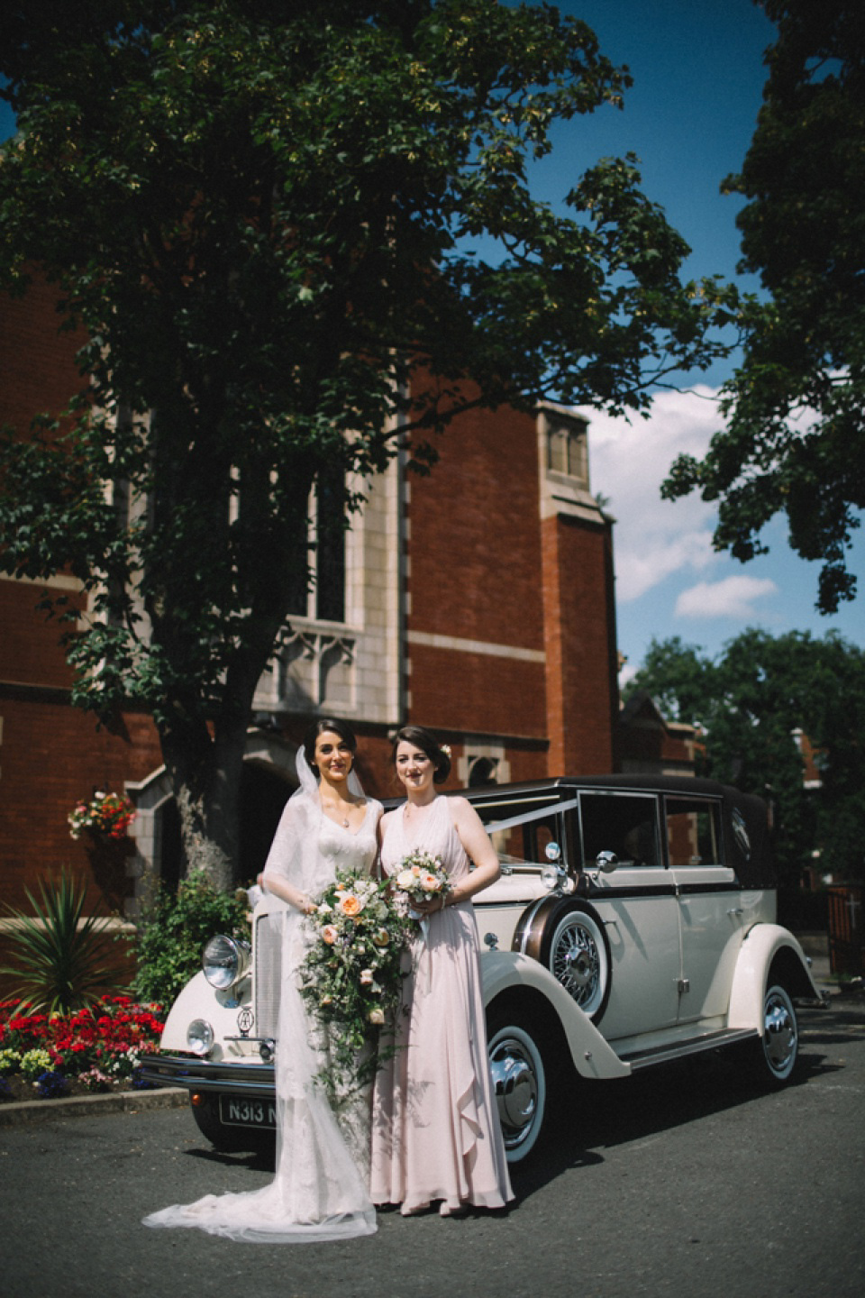
<svg viewBox="0 0 865 1298">
<path fill-rule="evenodd" d="M 316 1073 L 327 1040 L 306 1014 L 298 966 L 307 950 L 302 915 L 340 868 L 371 870 L 381 803 L 351 774 L 357 739 L 345 722 L 318 720 L 297 754 L 300 789 L 274 836 L 262 881 L 287 902 L 284 984 L 276 1049 L 276 1176 L 261 1190 L 206 1194 L 144 1218 L 149 1227 L 198 1227 L 261 1243 L 318 1242 L 372 1234 L 368 1195 L 368 1097 L 340 1118 Z M 307 765 L 306 753 L 311 753 Z M 316 778 L 318 776 L 318 781 Z"/>
</svg>

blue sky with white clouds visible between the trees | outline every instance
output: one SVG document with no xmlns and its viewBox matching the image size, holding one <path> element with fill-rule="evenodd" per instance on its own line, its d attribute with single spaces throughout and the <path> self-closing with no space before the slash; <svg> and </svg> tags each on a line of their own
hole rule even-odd
<svg viewBox="0 0 865 1298">
<path fill-rule="evenodd" d="M 718 187 L 739 169 L 753 132 L 772 23 L 751 0 L 565 0 L 559 8 L 595 30 L 602 51 L 629 65 L 634 86 L 622 112 L 604 109 L 556 129 L 552 154 L 533 170 L 536 196 L 558 205 L 586 166 L 633 152 L 646 193 L 693 249 L 685 274 L 733 278 L 741 200 Z M 0 138 L 10 127 L 3 105 Z M 660 500 L 676 454 L 700 454 L 718 426 L 715 396 L 730 369 L 731 362 L 717 365 L 690 391 L 659 395 L 648 422 L 586 411 L 591 488 L 610 498 L 617 519 L 616 606 L 626 675 L 652 636 L 678 635 L 712 654 L 748 626 L 772 635 L 835 628 L 865 644 L 865 528 L 851 561 L 860 598 L 825 618 L 814 610 L 817 565 L 790 550 L 782 520 L 765 532 L 770 553 L 742 565 L 712 550 L 709 506 L 694 497 Z"/>
</svg>

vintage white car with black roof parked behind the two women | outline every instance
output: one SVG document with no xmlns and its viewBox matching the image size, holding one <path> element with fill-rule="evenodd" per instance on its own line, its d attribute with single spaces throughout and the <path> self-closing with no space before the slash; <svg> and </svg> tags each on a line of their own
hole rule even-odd
<svg viewBox="0 0 865 1298">
<path fill-rule="evenodd" d="M 603 1081 L 737 1047 L 769 1085 L 821 996 L 776 923 L 766 807 L 709 780 L 550 779 L 466 790 L 502 861 L 475 897 L 489 1059 L 508 1160 L 550 1128 L 578 1075 Z M 187 1086 L 202 1133 L 244 1147 L 274 1127 L 280 989 L 266 896 L 252 950 L 214 937 L 144 1076 Z"/>
</svg>

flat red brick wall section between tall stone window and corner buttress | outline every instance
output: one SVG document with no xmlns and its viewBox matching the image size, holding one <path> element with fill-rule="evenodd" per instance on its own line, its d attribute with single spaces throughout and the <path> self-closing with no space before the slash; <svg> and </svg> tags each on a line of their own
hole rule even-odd
<svg viewBox="0 0 865 1298">
<path fill-rule="evenodd" d="M 543 649 L 534 419 L 473 410 L 409 475 L 409 631 Z M 410 718 L 436 729 L 543 736 L 541 663 L 409 644 Z"/>
</svg>

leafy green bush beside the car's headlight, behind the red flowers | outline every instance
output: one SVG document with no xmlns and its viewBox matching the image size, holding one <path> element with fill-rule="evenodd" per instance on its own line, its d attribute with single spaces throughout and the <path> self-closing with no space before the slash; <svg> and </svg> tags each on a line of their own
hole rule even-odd
<svg viewBox="0 0 865 1298">
<path fill-rule="evenodd" d="M 246 894 L 214 888 L 202 870 L 189 874 L 176 896 L 161 889 L 137 923 L 137 974 L 141 1001 L 169 1006 L 201 968 L 201 949 L 214 933 L 249 936 Z"/>
</svg>

